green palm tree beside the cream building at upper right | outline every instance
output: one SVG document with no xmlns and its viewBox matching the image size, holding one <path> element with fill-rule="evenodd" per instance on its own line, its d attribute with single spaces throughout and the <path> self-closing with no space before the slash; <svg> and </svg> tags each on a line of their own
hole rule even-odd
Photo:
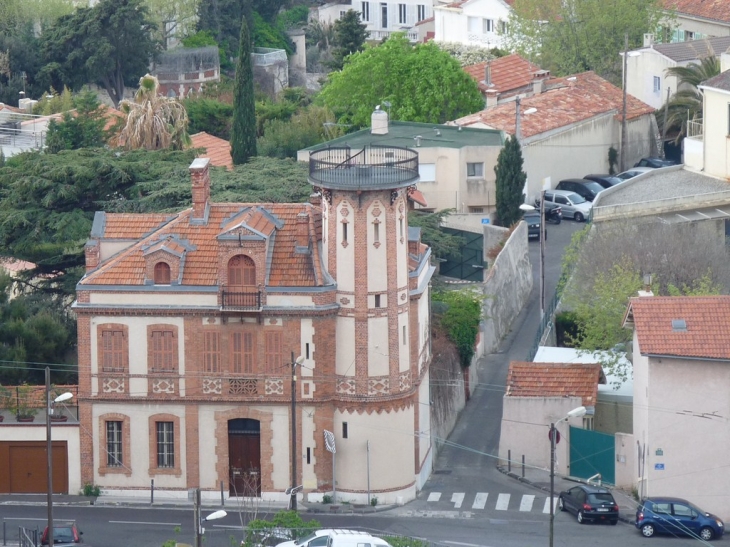
<svg viewBox="0 0 730 547">
<path fill-rule="evenodd" d="M 658 116 L 657 122 L 662 134 L 674 134 L 675 143 L 687 135 L 687 121 L 702 120 L 702 94 L 699 85 L 705 80 L 720 74 L 720 61 L 713 51 L 700 59 L 699 63 L 675 66 L 667 69 L 668 76 L 677 77 L 677 91 L 669 99 L 666 128 L 664 117 Z"/>
</svg>

